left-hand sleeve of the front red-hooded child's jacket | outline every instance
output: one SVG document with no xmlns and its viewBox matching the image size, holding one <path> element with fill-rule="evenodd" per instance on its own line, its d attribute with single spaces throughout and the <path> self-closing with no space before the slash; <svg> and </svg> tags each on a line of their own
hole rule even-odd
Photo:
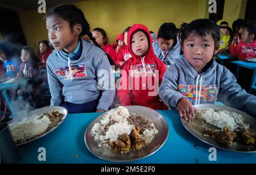
<svg viewBox="0 0 256 175">
<path fill-rule="evenodd" d="M 117 96 L 122 106 L 131 105 L 131 90 L 129 90 L 129 65 L 129 62 L 125 62 L 125 64 L 122 66 L 120 78 L 121 81 L 117 89 Z"/>
</svg>

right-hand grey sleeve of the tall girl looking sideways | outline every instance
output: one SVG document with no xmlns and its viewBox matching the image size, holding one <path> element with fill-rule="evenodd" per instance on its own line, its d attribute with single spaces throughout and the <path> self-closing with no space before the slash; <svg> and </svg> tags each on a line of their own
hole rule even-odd
<svg viewBox="0 0 256 175">
<path fill-rule="evenodd" d="M 115 81 L 108 57 L 104 54 L 97 62 L 97 84 L 101 90 L 101 98 L 97 109 L 108 111 L 115 97 Z"/>
</svg>

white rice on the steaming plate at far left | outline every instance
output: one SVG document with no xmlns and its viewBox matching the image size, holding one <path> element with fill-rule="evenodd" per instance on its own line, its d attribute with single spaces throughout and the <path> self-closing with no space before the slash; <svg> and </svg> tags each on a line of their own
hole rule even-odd
<svg viewBox="0 0 256 175">
<path fill-rule="evenodd" d="M 48 116 L 42 118 L 36 117 L 32 120 L 24 120 L 24 122 L 15 122 L 10 124 L 11 134 L 14 141 L 23 142 L 44 133 L 51 124 Z"/>
</svg>

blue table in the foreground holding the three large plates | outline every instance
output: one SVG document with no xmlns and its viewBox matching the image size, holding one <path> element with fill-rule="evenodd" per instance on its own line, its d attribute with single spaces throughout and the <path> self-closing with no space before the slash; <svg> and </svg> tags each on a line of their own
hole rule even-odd
<svg viewBox="0 0 256 175">
<path fill-rule="evenodd" d="M 237 153 L 217 149 L 217 161 L 209 161 L 210 145 L 191 135 L 180 122 L 176 110 L 159 111 L 168 122 L 170 134 L 166 143 L 153 155 L 132 163 L 256 163 L 256 153 Z M 97 163 L 101 160 L 87 149 L 86 127 L 99 113 L 69 114 L 55 130 L 28 144 L 20 145 L 19 163 Z M 46 161 L 38 161 L 38 149 L 46 148 Z"/>
</svg>

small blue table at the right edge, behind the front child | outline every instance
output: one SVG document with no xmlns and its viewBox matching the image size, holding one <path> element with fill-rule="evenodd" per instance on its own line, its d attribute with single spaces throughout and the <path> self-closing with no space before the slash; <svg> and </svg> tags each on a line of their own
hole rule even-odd
<svg viewBox="0 0 256 175">
<path fill-rule="evenodd" d="M 237 65 L 237 74 L 236 78 L 238 79 L 239 72 L 240 72 L 240 66 L 247 69 L 253 69 L 253 78 L 251 78 L 251 88 L 256 90 L 256 63 L 254 62 L 245 62 L 245 61 L 232 61 L 233 64 Z"/>
</svg>

